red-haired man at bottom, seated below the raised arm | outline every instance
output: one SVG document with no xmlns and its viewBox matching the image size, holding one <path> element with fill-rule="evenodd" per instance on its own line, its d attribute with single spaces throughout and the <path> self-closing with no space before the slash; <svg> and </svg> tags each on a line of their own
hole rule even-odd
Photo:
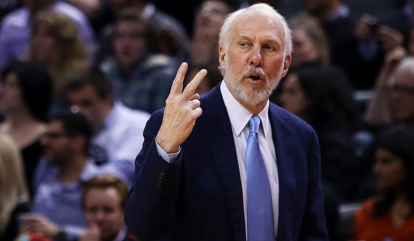
<svg viewBox="0 0 414 241">
<path fill-rule="evenodd" d="M 110 175 L 93 178 L 84 186 L 82 209 L 87 229 L 80 241 L 130 240 L 123 218 L 127 186 Z"/>
</svg>

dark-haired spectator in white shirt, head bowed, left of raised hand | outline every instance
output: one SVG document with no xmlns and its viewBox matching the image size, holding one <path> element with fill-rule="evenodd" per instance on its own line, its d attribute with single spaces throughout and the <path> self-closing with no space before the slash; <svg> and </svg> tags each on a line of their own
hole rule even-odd
<svg viewBox="0 0 414 241">
<path fill-rule="evenodd" d="M 132 181 L 135 157 L 144 141 L 142 132 L 149 114 L 114 103 L 111 83 L 97 68 L 88 69 L 71 81 L 67 93 L 72 110 L 83 113 L 92 125 L 95 160 L 118 166 Z"/>
</svg>

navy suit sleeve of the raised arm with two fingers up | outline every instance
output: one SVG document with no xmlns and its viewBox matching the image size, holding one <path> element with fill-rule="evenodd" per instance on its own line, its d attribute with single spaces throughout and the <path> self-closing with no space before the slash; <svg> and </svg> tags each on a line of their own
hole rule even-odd
<svg viewBox="0 0 414 241">
<path fill-rule="evenodd" d="M 157 152 L 155 136 L 163 112 L 155 112 L 143 131 L 144 143 L 135 161 L 135 174 L 125 206 L 125 223 L 138 240 L 154 240 L 168 230 L 174 216 L 182 150 L 173 164 Z"/>
</svg>

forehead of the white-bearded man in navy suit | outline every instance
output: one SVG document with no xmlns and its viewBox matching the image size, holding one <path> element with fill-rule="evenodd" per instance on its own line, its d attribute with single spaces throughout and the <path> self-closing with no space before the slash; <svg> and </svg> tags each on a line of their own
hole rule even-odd
<svg viewBox="0 0 414 241">
<path fill-rule="evenodd" d="M 282 44 L 284 32 L 281 23 L 276 18 L 249 11 L 244 12 L 235 20 L 231 36 L 276 40 Z"/>
</svg>

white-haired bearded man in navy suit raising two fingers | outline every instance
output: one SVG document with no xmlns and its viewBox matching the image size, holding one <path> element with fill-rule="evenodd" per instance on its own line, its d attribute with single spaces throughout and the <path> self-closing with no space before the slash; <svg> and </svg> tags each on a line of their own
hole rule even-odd
<svg viewBox="0 0 414 241">
<path fill-rule="evenodd" d="M 138 240 L 328 240 L 316 135 L 269 103 L 291 48 L 283 17 L 255 4 L 223 24 L 224 82 L 199 100 L 201 70 L 181 93 L 181 65 L 136 160 L 125 222 Z"/>
</svg>

